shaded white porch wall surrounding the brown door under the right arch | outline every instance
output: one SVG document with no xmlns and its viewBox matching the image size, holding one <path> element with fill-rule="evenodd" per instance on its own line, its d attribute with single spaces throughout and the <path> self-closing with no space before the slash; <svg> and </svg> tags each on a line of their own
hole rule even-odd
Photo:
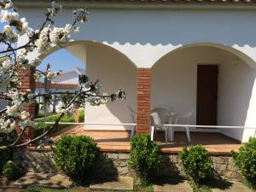
<svg viewBox="0 0 256 192">
<path fill-rule="evenodd" d="M 190 124 L 196 125 L 198 64 L 218 65 L 218 125 L 245 125 L 256 71 L 236 55 L 218 48 L 192 46 L 157 61 L 151 75 L 151 106 L 169 107 L 177 115 L 194 108 Z M 243 137 L 243 130 L 221 132 L 240 141 Z"/>
</svg>

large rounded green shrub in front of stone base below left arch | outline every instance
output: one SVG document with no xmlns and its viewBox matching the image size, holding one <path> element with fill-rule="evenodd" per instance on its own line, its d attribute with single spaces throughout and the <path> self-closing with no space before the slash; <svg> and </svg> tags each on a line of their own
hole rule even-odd
<svg viewBox="0 0 256 192">
<path fill-rule="evenodd" d="M 95 165 L 98 148 L 91 137 L 63 136 L 55 143 L 53 156 L 56 166 L 80 182 L 88 178 L 90 168 Z"/>
</svg>

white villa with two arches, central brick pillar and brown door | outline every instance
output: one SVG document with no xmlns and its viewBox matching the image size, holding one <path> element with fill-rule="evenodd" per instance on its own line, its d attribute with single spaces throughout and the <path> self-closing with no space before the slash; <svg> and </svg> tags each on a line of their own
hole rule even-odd
<svg viewBox="0 0 256 192">
<path fill-rule="evenodd" d="M 45 0 L 16 0 L 34 26 L 43 21 Z M 150 108 L 181 115 L 189 125 L 256 127 L 256 2 L 253 0 L 66 0 L 57 26 L 74 8 L 88 7 L 89 22 L 67 51 L 86 63 L 102 91 L 122 88 L 125 102 L 86 107 L 85 123 L 137 123 L 148 131 Z M 20 38 L 19 44 L 24 44 Z M 57 48 L 52 49 L 52 52 Z M 44 59 L 47 55 L 41 55 Z M 57 82 L 55 82 L 57 83 Z M 99 128 L 99 125 L 86 125 Z M 130 129 L 130 126 L 102 126 Z M 177 131 L 183 129 L 177 128 Z M 189 128 L 220 132 L 245 142 L 253 129 Z"/>
</svg>

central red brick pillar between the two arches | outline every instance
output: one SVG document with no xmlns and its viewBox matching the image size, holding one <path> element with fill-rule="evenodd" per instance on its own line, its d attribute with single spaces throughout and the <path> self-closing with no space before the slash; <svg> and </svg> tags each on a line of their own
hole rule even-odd
<svg viewBox="0 0 256 192">
<path fill-rule="evenodd" d="M 150 131 L 150 68 L 137 69 L 137 128 L 136 133 Z"/>
</svg>

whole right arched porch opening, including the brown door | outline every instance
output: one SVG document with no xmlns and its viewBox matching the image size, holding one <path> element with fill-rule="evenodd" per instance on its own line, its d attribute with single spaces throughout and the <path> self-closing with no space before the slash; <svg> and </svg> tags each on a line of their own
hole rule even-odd
<svg viewBox="0 0 256 192">
<path fill-rule="evenodd" d="M 205 111 L 216 110 L 216 123 L 212 125 L 255 126 L 255 63 L 247 55 L 221 44 L 190 44 L 160 58 L 151 71 L 151 106 L 166 106 L 177 115 L 194 109 L 189 124 L 200 125 L 200 103 L 204 105 L 201 100 L 207 100 L 207 92 L 215 89 L 212 84 L 204 82 L 207 89 L 201 90 L 200 66 L 213 66 L 218 70 L 218 89 L 210 100 L 216 100 L 216 108 L 204 108 Z M 202 76 L 208 77 L 209 74 L 204 73 Z M 239 141 L 246 141 L 255 132 L 242 129 L 199 128 L 191 128 L 190 131 L 218 131 Z"/>
</svg>

